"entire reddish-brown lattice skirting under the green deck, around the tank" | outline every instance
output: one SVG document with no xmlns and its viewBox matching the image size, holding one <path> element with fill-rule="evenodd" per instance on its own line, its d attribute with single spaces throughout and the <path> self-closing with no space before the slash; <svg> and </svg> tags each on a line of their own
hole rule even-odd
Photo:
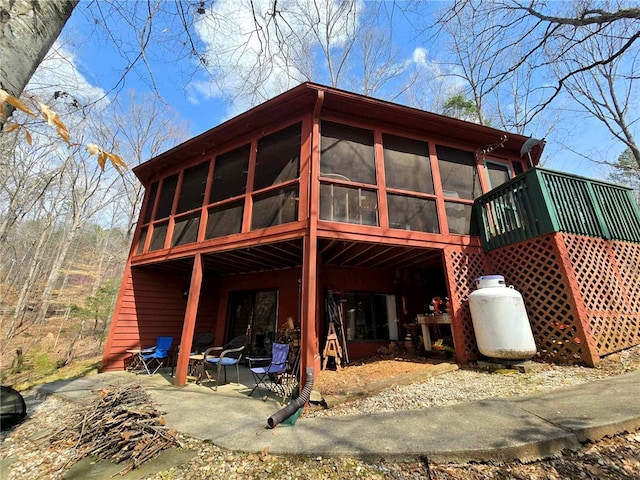
<svg viewBox="0 0 640 480">
<path fill-rule="evenodd" d="M 524 299 L 541 360 L 593 366 L 640 344 L 640 245 L 553 233 L 489 253 L 444 251 L 458 361 L 479 357 L 469 295 L 504 275 Z"/>
</svg>

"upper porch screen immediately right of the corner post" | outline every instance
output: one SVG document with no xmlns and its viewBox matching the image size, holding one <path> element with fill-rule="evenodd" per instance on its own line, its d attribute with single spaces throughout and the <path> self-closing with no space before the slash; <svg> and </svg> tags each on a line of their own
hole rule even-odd
<svg viewBox="0 0 640 480">
<path fill-rule="evenodd" d="M 320 175 L 355 183 L 376 183 L 373 132 L 322 122 Z"/>
</svg>

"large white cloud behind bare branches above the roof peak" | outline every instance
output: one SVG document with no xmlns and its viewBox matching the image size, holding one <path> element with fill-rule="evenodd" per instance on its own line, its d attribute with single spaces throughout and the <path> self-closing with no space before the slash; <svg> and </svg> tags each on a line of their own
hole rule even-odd
<svg viewBox="0 0 640 480">
<path fill-rule="evenodd" d="M 278 2 L 280 13 L 274 16 L 272 0 L 251 3 L 253 10 L 246 0 L 220 0 L 196 24 L 211 78 L 192 83 L 190 100 L 231 99 L 228 116 L 306 80 L 322 82 L 322 39 L 313 34 L 313 26 L 323 31 L 327 19 L 334 18 L 330 47 L 340 48 L 357 28 L 363 8 L 359 1 L 349 4 L 353 9 L 348 14 L 339 15 L 346 8 L 343 2 L 297 0 Z M 318 15 L 318 23 L 311 14 Z"/>
</svg>

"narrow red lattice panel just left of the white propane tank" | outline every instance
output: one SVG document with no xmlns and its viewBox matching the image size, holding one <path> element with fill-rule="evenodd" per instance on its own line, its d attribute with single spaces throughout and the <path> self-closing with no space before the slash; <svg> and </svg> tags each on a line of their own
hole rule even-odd
<svg viewBox="0 0 640 480">
<path fill-rule="evenodd" d="M 469 310 L 469 295 L 475 289 L 476 278 L 487 273 L 487 257 L 480 248 L 451 247 L 445 249 L 444 259 L 453 310 L 456 356 L 460 363 L 466 364 L 479 356 Z"/>
</svg>

